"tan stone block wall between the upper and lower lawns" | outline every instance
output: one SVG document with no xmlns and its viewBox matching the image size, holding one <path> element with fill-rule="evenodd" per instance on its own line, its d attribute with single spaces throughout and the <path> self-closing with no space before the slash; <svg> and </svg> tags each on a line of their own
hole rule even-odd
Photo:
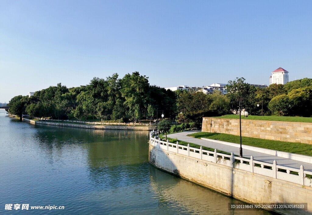
<svg viewBox="0 0 312 215">
<path fill-rule="evenodd" d="M 239 120 L 203 117 L 202 131 L 239 135 Z M 312 123 L 242 119 L 241 135 L 245 137 L 312 144 Z"/>
</svg>

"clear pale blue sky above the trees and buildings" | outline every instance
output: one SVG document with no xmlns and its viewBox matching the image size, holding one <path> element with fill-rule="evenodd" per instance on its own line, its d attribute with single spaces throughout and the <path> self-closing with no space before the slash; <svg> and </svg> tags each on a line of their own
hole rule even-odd
<svg viewBox="0 0 312 215">
<path fill-rule="evenodd" d="M 312 1 L 0 1 L 0 102 L 139 71 L 161 87 L 312 78 Z"/>
</svg>

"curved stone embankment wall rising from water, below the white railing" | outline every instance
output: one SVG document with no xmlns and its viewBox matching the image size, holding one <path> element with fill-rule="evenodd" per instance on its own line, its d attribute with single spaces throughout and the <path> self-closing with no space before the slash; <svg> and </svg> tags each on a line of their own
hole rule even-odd
<svg viewBox="0 0 312 215">
<path fill-rule="evenodd" d="M 307 211 L 272 209 L 281 214 L 312 213 L 311 187 L 203 161 L 153 145 L 149 145 L 149 162 L 159 169 L 247 203 L 307 203 Z"/>
</svg>

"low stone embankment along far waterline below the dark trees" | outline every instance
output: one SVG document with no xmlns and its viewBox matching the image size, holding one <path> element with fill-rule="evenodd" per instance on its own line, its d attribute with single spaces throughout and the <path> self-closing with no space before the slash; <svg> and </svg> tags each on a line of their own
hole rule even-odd
<svg viewBox="0 0 312 215">
<path fill-rule="evenodd" d="M 17 118 L 15 115 L 9 115 L 10 117 Z M 45 121 L 35 121 L 27 118 L 23 118 L 23 121 L 29 122 L 30 124 L 43 124 L 43 125 L 53 125 L 62 127 L 76 127 L 85 129 L 117 129 L 117 130 L 156 130 L 155 126 L 130 126 L 130 125 L 81 125 L 81 124 L 71 124 L 71 123 L 58 123 L 58 122 L 45 122 Z"/>
</svg>

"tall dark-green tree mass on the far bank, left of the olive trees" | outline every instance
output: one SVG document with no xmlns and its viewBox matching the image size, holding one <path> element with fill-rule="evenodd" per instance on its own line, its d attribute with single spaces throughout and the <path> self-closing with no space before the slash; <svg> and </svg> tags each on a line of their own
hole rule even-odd
<svg viewBox="0 0 312 215">
<path fill-rule="evenodd" d="M 163 110 L 168 118 L 175 115 L 175 93 L 158 86 L 150 86 L 148 77 L 139 72 L 126 74 L 119 79 L 113 74 L 106 79 L 93 78 L 87 86 L 67 88 L 61 83 L 35 92 L 33 96 L 16 96 L 11 100 L 10 112 L 17 113 L 16 100 L 23 100 L 20 109 L 31 117 L 52 117 L 53 119 L 87 117 L 93 119 L 134 121 L 155 116 L 157 108 Z M 12 108 L 12 110 L 11 110 Z"/>
</svg>

